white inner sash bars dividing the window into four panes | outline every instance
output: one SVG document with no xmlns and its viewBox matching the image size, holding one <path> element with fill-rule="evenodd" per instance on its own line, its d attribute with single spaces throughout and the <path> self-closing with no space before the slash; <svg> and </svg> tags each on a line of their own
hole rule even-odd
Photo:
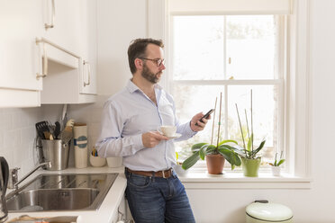
<svg viewBox="0 0 335 223">
<path fill-rule="evenodd" d="M 170 15 L 170 25 L 169 25 L 169 53 L 168 53 L 168 61 L 173 61 L 173 50 L 172 50 L 172 45 L 173 45 L 173 17 L 174 16 L 184 16 L 185 14 L 177 14 L 177 13 L 172 13 Z M 197 15 L 196 13 L 194 14 L 187 14 L 187 15 Z M 202 14 L 203 15 L 203 14 Z M 211 14 L 209 14 L 211 15 Z M 222 15 L 226 16 L 226 15 Z M 173 93 L 173 89 L 171 86 L 173 85 L 222 85 L 224 87 L 224 97 L 222 99 L 223 104 L 227 103 L 228 97 L 228 89 L 227 86 L 230 85 L 273 85 L 278 87 L 278 108 L 280 108 L 280 111 L 278 111 L 278 147 L 284 147 L 284 142 L 285 142 L 285 135 L 284 135 L 284 128 L 285 128 L 285 76 L 286 76 L 286 67 L 285 67 L 285 58 L 286 58 L 286 29 L 287 29 L 287 20 L 285 19 L 285 15 L 275 15 L 276 19 L 276 63 L 275 66 L 278 67 L 276 68 L 276 73 L 275 76 L 276 78 L 274 79 L 236 79 L 236 80 L 229 80 L 229 79 L 223 79 L 223 80 L 173 80 L 172 75 L 168 75 L 168 91 L 171 94 Z M 224 22 L 226 22 L 226 18 L 224 18 Z M 226 38 L 223 39 L 223 44 L 226 44 Z M 226 58 L 226 51 L 223 54 L 223 59 Z M 223 61 L 224 63 L 224 61 Z M 169 67 L 171 70 L 173 70 L 173 64 L 170 63 Z M 226 65 L 224 65 L 224 72 L 226 72 Z M 279 68 L 280 67 L 280 68 Z M 226 74 L 223 74 L 226 76 Z M 225 107 L 225 112 L 228 113 L 228 108 L 227 106 Z M 225 119 L 223 122 L 227 123 L 227 116 L 225 116 Z M 225 128 L 225 138 L 227 138 L 227 126 L 223 126 Z M 286 148 L 284 148 L 285 153 L 286 153 Z M 290 164 L 287 162 L 287 164 Z M 289 165 L 284 165 L 285 167 L 283 168 L 283 172 L 288 172 Z M 204 171 L 206 169 L 205 162 L 197 162 L 194 167 L 192 167 L 192 171 L 198 172 L 198 171 Z M 260 172 L 269 172 L 269 167 L 267 168 L 266 166 L 262 166 L 260 169 Z M 225 171 L 227 171 L 227 168 L 225 167 Z M 240 168 L 237 168 L 237 172 L 240 172 Z"/>
</svg>

